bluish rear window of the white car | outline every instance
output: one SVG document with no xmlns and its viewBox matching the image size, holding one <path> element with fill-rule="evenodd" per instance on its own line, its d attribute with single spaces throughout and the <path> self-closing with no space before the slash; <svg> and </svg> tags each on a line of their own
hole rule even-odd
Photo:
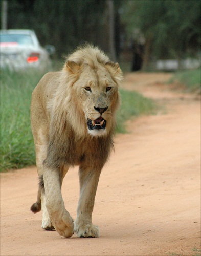
<svg viewBox="0 0 201 256">
<path fill-rule="evenodd" d="M 30 35 L 23 34 L 1 34 L 1 46 L 6 45 L 33 45 L 33 40 Z"/>
</svg>

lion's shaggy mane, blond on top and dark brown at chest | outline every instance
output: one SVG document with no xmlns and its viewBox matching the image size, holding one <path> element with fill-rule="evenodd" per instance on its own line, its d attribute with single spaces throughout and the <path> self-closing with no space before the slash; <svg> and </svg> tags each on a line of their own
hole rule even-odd
<svg viewBox="0 0 201 256">
<path fill-rule="evenodd" d="M 69 68 L 69 61 L 75 63 L 75 67 Z M 100 155 L 102 161 L 101 166 L 104 165 L 108 158 L 111 148 L 113 147 L 113 134 L 115 131 L 116 119 L 115 116 L 111 116 L 111 127 L 108 134 L 102 137 L 90 136 L 85 126 L 86 119 L 84 117 L 82 109 L 77 95 L 73 90 L 73 84 L 78 79 L 81 72 L 83 72 L 84 66 L 89 65 L 92 69 L 98 69 L 99 65 L 103 65 L 109 71 L 114 81 L 119 84 L 122 82 L 122 72 L 115 63 L 110 62 L 109 58 L 98 48 L 88 45 L 84 48 L 79 48 L 76 52 L 69 55 L 66 59 L 66 65 L 63 67 L 60 75 L 59 85 L 56 93 L 49 105 L 50 110 L 50 134 L 49 134 L 49 154 L 47 162 L 51 164 L 60 165 L 62 162 L 70 162 L 72 165 L 76 165 L 85 159 L 85 154 L 81 154 L 81 148 L 85 148 L 88 155 L 87 158 L 91 161 L 96 156 Z M 73 68 L 76 70 L 73 70 Z M 86 74 L 87 75 L 87 74 Z M 114 112 L 120 104 L 119 94 L 113 106 Z M 93 143 L 93 150 L 92 149 Z M 76 145 L 79 145 L 76 147 Z M 72 152 L 72 154 L 71 154 Z M 55 155 L 60 157 L 55 162 Z M 66 156 L 68 155 L 68 159 Z M 77 157 L 79 159 L 77 159 Z M 92 163 L 89 163 L 90 165 Z"/>
</svg>

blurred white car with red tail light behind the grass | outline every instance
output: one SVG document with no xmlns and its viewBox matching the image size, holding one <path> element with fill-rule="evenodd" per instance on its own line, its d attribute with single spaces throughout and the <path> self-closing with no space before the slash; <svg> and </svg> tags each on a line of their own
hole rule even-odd
<svg viewBox="0 0 201 256">
<path fill-rule="evenodd" d="M 9 29 L 0 31 L 1 69 L 22 70 L 28 67 L 41 71 L 51 69 L 49 54 L 53 46 L 42 48 L 33 30 Z"/>
</svg>

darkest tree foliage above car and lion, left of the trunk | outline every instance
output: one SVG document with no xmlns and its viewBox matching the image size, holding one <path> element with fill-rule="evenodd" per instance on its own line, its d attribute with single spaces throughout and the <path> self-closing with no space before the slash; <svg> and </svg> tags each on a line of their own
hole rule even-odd
<svg viewBox="0 0 201 256">
<path fill-rule="evenodd" d="M 56 47 L 58 57 L 85 41 L 105 50 L 106 10 L 106 1 L 101 0 L 12 0 L 8 1 L 8 28 L 35 30 L 42 45 Z"/>
</svg>

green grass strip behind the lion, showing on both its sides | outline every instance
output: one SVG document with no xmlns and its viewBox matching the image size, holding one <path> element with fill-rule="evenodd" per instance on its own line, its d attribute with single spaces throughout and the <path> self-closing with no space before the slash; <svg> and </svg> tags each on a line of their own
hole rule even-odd
<svg viewBox="0 0 201 256">
<path fill-rule="evenodd" d="M 1 171 L 35 164 L 30 124 L 31 94 L 42 74 L 1 71 Z M 125 132 L 125 121 L 131 116 L 154 110 L 150 99 L 136 92 L 121 90 L 122 105 L 117 113 L 117 132 Z"/>
</svg>

